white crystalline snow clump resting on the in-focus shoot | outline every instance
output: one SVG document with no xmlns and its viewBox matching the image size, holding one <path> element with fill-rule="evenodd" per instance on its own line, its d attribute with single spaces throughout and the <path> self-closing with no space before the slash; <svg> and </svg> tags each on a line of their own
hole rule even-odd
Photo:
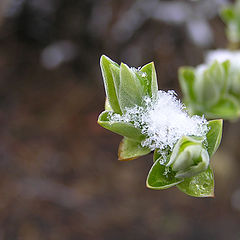
<svg viewBox="0 0 240 240">
<path fill-rule="evenodd" d="M 146 139 L 141 144 L 151 150 L 172 150 L 181 137 L 205 137 L 208 132 L 205 118 L 189 116 L 174 91 L 158 91 L 156 100 L 145 97 L 142 106 L 127 108 L 123 115 L 113 113 L 109 120 L 142 129 Z"/>
</svg>

